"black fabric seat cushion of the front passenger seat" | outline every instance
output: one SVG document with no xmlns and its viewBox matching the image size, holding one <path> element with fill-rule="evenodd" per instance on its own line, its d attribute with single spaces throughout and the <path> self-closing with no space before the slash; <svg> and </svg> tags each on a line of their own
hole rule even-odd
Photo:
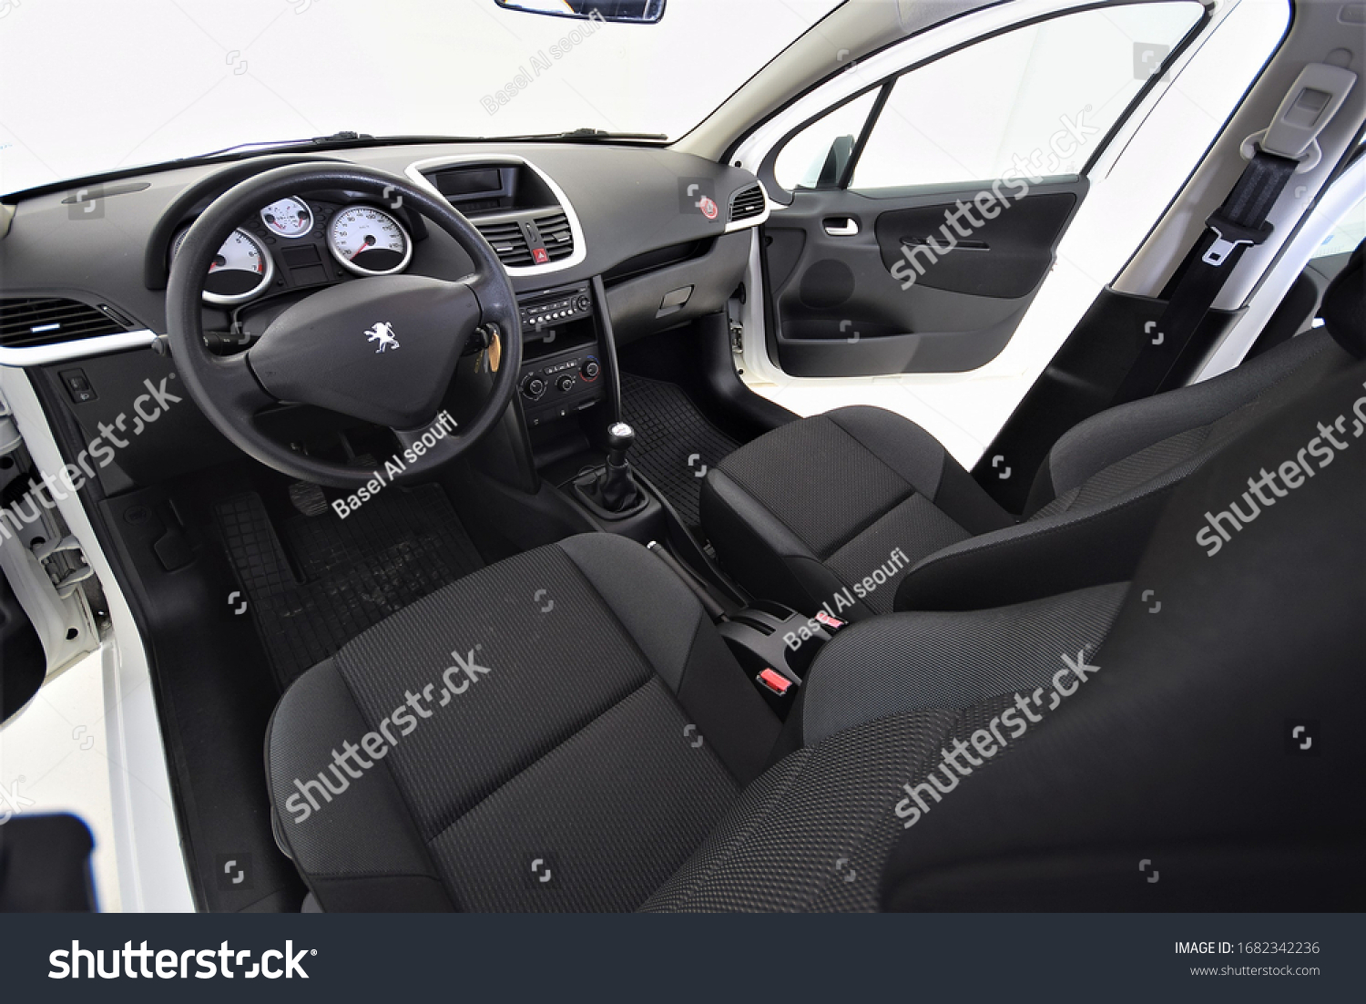
<svg viewBox="0 0 1366 1004">
<path fill-rule="evenodd" d="M 702 486 L 703 529 L 746 589 L 855 620 L 891 611 L 921 557 L 1009 522 L 934 437 L 873 407 L 781 426 Z"/>
</svg>

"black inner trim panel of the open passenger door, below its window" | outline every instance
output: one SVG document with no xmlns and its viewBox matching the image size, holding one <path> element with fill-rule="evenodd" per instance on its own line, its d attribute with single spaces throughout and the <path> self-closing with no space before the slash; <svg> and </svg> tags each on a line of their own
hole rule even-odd
<svg viewBox="0 0 1366 1004">
<path fill-rule="evenodd" d="M 1034 184 L 1018 201 L 1007 191 L 993 219 L 978 213 L 981 225 L 959 217 L 966 236 L 945 213 L 959 202 L 971 209 L 990 183 L 877 197 L 798 191 L 765 224 L 776 321 L 770 352 L 798 377 L 986 365 L 1042 285 L 1086 187 L 1070 176 Z"/>
</svg>

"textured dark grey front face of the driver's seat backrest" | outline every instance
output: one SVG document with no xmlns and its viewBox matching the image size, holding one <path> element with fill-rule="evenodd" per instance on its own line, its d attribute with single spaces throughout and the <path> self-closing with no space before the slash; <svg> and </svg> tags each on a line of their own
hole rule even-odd
<svg viewBox="0 0 1366 1004">
<path fill-rule="evenodd" d="M 821 650 L 788 721 L 799 749 L 744 791 L 643 910 L 877 908 L 882 865 L 904 832 L 903 785 L 923 783 L 955 738 L 994 728 L 1008 743 L 1001 717 L 1018 714 L 1015 695 L 1049 694 L 1059 673 L 1071 686 L 1065 658 L 1096 652 L 1127 591 L 1116 583 L 846 628 Z"/>
</svg>

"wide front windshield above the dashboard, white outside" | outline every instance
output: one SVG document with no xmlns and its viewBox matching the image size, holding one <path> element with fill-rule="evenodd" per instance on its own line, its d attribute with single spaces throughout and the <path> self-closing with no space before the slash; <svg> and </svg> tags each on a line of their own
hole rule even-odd
<svg viewBox="0 0 1366 1004">
<path fill-rule="evenodd" d="M 0 0 L 0 193 L 340 131 L 676 139 L 839 3 L 612 25 L 494 0 Z"/>
</svg>

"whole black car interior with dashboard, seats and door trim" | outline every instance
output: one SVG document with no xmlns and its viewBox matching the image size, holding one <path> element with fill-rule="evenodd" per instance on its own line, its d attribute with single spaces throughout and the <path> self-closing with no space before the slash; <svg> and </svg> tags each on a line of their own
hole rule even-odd
<svg viewBox="0 0 1366 1004">
<path fill-rule="evenodd" d="M 1362 242 L 1205 369 L 1246 313 L 1210 307 L 1223 266 L 1299 225 L 1268 219 L 1320 149 L 1272 126 L 1239 157 L 1246 123 L 1336 96 L 1332 179 L 1361 178 L 1330 71 L 1366 49 L 1328 59 L 1341 4 L 1295 7 L 1199 210 L 1164 214 L 1184 238 L 1130 261 L 1165 279 L 1067 321 L 975 464 L 887 407 L 798 414 L 744 352 L 989 363 L 1087 169 L 908 290 L 984 186 L 869 198 L 872 126 L 784 184 L 781 145 L 743 153 L 770 113 L 710 158 L 339 134 L 5 195 L 0 365 L 60 456 L 0 445 L 0 501 L 34 507 L 0 525 L 79 616 L 0 578 L 0 720 L 116 589 L 205 911 L 1362 908 Z M 105 583 L 29 494 L 55 470 Z"/>
</svg>

